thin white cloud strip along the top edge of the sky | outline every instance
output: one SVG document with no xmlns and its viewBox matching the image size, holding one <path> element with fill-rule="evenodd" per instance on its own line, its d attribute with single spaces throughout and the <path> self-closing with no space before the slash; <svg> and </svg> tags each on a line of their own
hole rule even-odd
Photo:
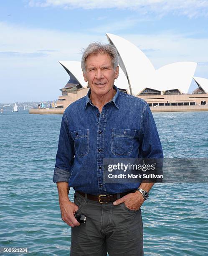
<svg viewBox="0 0 208 256">
<path fill-rule="evenodd" d="M 30 6 L 61 8 L 103 9 L 117 8 L 137 10 L 143 14 L 174 13 L 190 18 L 208 15 L 208 0 L 28 0 Z"/>
</svg>

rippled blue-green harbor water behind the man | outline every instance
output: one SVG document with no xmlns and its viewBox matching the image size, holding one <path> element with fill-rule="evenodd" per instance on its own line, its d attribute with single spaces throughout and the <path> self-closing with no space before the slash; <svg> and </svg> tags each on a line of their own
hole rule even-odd
<svg viewBox="0 0 208 256">
<path fill-rule="evenodd" d="M 208 112 L 153 115 L 165 158 L 208 158 Z M 61 118 L 28 111 L 0 115 L 1 250 L 70 253 L 71 228 L 61 220 L 53 183 Z M 145 255 L 208 255 L 207 185 L 154 185 L 142 205 Z"/>
</svg>

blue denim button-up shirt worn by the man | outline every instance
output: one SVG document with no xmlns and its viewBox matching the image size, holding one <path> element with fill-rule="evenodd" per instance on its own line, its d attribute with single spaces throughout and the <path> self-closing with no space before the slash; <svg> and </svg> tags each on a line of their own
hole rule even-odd
<svg viewBox="0 0 208 256">
<path fill-rule="evenodd" d="M 115 194 L 140 183 L 109 184 L 105 158 L 163 158 L 152 112 L 145 100 L 117 91 L 101 113 L 89 98 L 71 103 L 63 113 L 53 182 L 68 182 L 75 190 Z"/>
</svg>

